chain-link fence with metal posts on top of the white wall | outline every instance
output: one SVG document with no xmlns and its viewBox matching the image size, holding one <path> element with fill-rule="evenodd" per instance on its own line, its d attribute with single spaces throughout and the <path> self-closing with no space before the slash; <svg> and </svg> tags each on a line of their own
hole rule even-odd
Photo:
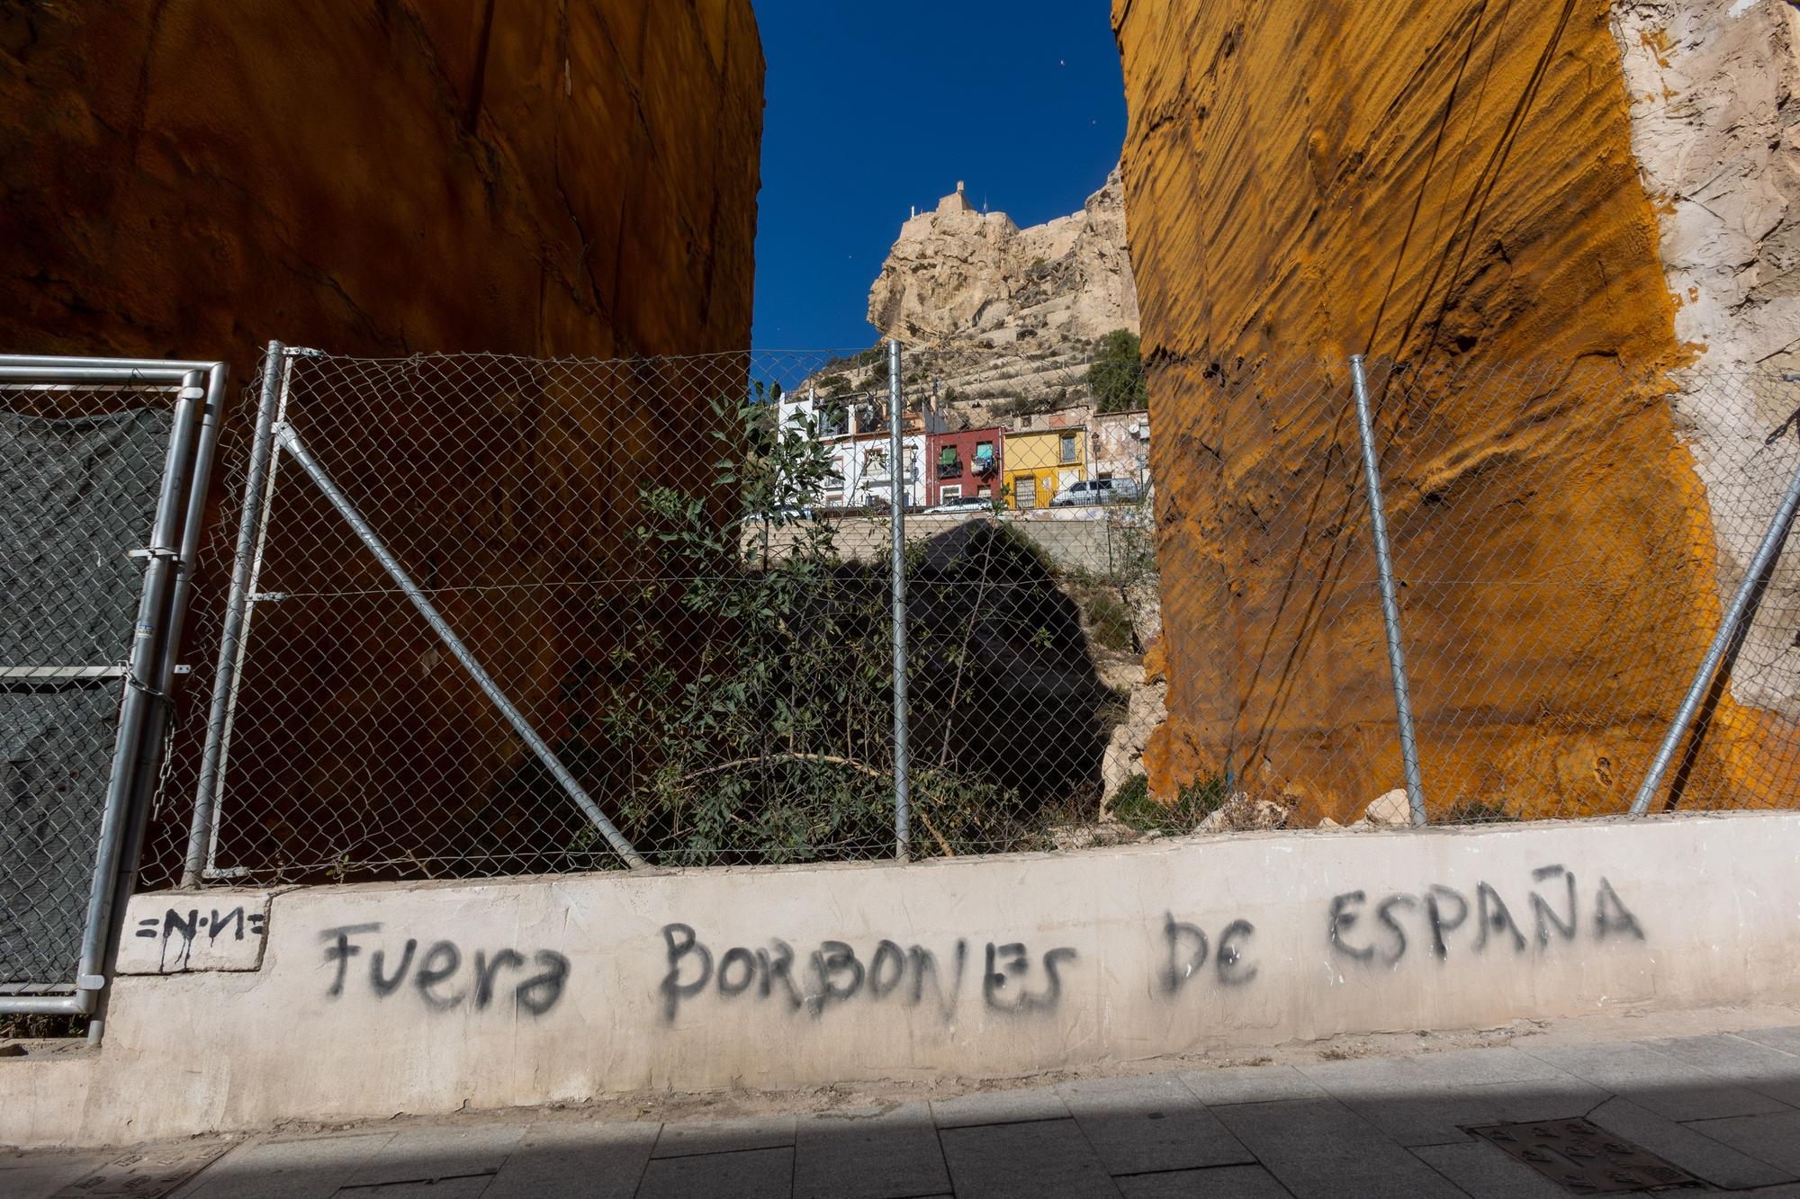
<svg viewBox="0 0 1800 1199">
<path fill-rule="evenodd" d="M 1390 621 L 1345 360 L 1147 391 L 1114 338 L 283 351 L 263 382 L 151 884 L 1406 823 L 1390 641 L 1426 819 L 1625 812 L 1800 466 L 1775 374 L 1366 364 Z M 1791 574 L 1652 810 L 1795 801 Z"/>
</svg>

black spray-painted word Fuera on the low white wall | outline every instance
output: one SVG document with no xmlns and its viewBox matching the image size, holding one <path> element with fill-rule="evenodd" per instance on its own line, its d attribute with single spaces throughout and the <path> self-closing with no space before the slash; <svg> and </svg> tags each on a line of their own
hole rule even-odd
<svg viewBox="0 0 1800 1199">
<path fill-rule="evenodd" d="M 326 965 L 337 967 L 326 996 L 331 999 L 344 996 L 351 978 L 351 958 L 364 956 L 362 938 L 374 938 L 380 931 L 382 925 L 374 922 L 320 929 Z M 526 1015 L 544 1015 L 562 1003 L 569 983 L 569 958 L 554 949 L 540 949 L 527 961 L 526 954 L 513 947 L 482 947 L 464 954 L 463 947 L 448 938 L 421 949 L 419 940 L 409 936 L 398 952 L 391 943 L 367 945 L 367 951 L 369 970 L 364 983 L 369 996 L 389 999 L 405 988 L 416 992 L 434 1012 L 463 1006 L 482 1012 L 506 992 Z"/>
</svg>

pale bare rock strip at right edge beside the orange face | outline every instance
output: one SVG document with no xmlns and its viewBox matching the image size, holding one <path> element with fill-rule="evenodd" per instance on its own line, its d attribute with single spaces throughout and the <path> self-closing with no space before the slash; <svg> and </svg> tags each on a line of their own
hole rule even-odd
<svg viewBox="0 0 1800 1199">
<path fill-rule="evenodd" d="M 1618 5 L 1631 146 L 1658 203 L 1676 338 L 1678 423 L 1712 497 L 1719 589 L 1737 589 L 1789 470 L 1769 457 L 1800 389 L 1800 11 L 1780 0 Z M 1784 439 L 1786 441 L 1786 439 Z M 1800 718 L 1800 554 L 1786 554 L 1732 672 L 1750 740 Z"/>
</svg>

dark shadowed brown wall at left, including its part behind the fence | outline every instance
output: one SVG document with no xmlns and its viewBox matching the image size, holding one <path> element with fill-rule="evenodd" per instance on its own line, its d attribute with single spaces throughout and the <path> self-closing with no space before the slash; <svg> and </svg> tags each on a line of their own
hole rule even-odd
<svg viewBox="0 0 1800 1199">
<path fill-rule="evenodd" d="M 761 86 L 749 0 L 0 5 L 0 347 L 223 356 L 238 385 L 268 338 L 742 351 Z M 581 673 L 605 630 L 592 596 L 547 581 L 621 572 L 607 563 L 630 554 L 637 488 L 700 482 L 664 445 L 700 436 L 742 374 L 301 364 L 292 414 L 513 700 L 565 738 L 605 702 Z M 517 738 L 293 472 L 265 565 L 302 594 L 252 632 L 225 852 L 342 841 L 351 864 L 414 870 L 472 812 L 508 843 L 491 805 L 522 771 Z M 191 630 L 205 661 L 205 610 Z M 191 765 L 198 727 L 184 738 Z M 567 799 L 531 803 L 538 837 L 567 844 L 542 816 Z M 364 826 L 400 835 L 326 832 Z M 162 844 L 178 855 L 178 830 Z"/>
</svg>

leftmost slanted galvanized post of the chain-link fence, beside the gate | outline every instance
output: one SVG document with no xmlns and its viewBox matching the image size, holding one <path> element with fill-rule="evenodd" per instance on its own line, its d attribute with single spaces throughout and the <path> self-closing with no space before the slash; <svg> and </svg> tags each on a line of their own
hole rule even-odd
<svg viewBox="0 0 1800 1199">
<path fill-rule="evenodd" d="M 220 798 L 220 774 L 229 736 L 230 704 L 238 693 L 238 672 L 243 668 L 243 639 L 250 607 L 250 569 L 263 527 L 263 506 L 268 500 L 268 472 L 275 455 L 275 407 L 288 373 L 286 347 L 268 344 L 263 358 L 263 398 L 256 412 L 256 436 L 250 439 L 250 472 L 243 486 L 243 513 L 238 517 L 238 553 L 232 560 L 230 590 L 225 598 L 225 628 L 220 634 L 218 673 L 212 679 L 212 706 L 207 709 L 207 740 L 200 754 L 200 778 L 194 783 L 194 816 L 187 828 L 187 861 L 182 886 L 200 886 L 207 866 L 207 846 Z"/>
</svg>

